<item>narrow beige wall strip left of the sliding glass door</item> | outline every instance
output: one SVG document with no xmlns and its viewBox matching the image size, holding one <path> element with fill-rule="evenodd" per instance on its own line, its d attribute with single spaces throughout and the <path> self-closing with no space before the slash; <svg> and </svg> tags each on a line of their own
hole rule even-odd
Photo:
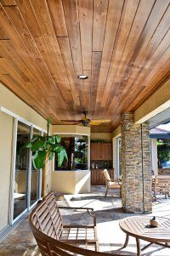
<svg viewBox="0 0 170 256">
<path fill-rule="evenodd" d="M 0 112 L 0 230 L 8 225 L 13 117 Z"/>
</svg>

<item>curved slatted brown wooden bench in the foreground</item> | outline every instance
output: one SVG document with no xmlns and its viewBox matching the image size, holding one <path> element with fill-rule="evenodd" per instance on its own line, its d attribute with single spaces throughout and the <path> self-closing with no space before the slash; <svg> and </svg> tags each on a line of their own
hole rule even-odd
<svg viewBox="0 0 170 256">
<path fill-rule="evenodd" d="M 80 208 L 73 208 L 80 209 Z M 90 213 L 92 208 L 81 208 L 85 209 Z M 98 250 L 98 240 L 96 236 L 96 222 L 93 213 L 90 213 L 94 218 L 94 225 L 90 226 L 69 226 L 63 224 L 61 215 L 59 213 L 59 208 L 57 207 L 57 202 L 54 198 L 54 194 L 50 193 L 48 196 L 44 197 L 42 202 L 37 205 L 37 208 L 33 209 L 29 218 L 29 224 L 36 238 L 37 245 L 39 247 L 42 256 L 55 256 L 55 255 L 118 255 L 113 253 L 99 253 Z M 69 233 L 71 233 L 71 228 L 76 230 L 94 230 L 93 234 L 88 233 L 88 231 L 83 232 L 85 237 L 78 237 L 78 232 L 76 231 L 77 237 L 70 239 L 69 236 L 63 236 L 65 234 L 65 228 L 69 228 Z M 66 233 L 68 234 L 68 233 Z M 89 235 L 89 236 L 88 236 Z M 92 249 L 88 249 L 92 248 Z"/>
</svg>

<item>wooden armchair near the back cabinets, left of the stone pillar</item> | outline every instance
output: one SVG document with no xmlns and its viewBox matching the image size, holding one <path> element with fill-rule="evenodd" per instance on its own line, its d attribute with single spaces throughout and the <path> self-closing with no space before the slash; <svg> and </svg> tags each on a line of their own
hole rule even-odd
<svg viewBox="0 0 170 256">
<path fill-rule="evenodd" d="M 102 172 L 104 179 L 105 179 L 105 185 L 106 185 L 106 191 L 105 191 L 105 196 L 107 196 L 108 191 L 111 190 L 120 190 L 120 196 L 122 197 L 122 184 L 116 180 L 116 179 L 111 179 L 110 174 L 108 171 L 105 169 Z"/>
</svg>

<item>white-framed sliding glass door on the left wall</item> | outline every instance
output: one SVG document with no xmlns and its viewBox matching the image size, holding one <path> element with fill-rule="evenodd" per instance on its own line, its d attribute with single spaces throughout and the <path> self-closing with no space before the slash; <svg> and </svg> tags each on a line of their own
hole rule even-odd
<svg viewBox="0 0 170 256">
<path fill-rule="evenodd" d="M 13 224 L 17 219 L 30 210 L 42 195 L 42 170 L 34 168 L 31 161 L 30 149 L 22 149 L 31 138 L 42 134 L 40 130 L 32 125 L 27 125 L 15 119 L 14 128 L 14 164 L 12 174 L 12 199 L 10 211 L 10 223 Z M 15 137 L 16 136 L 16 137 Z"/>
</svg>

